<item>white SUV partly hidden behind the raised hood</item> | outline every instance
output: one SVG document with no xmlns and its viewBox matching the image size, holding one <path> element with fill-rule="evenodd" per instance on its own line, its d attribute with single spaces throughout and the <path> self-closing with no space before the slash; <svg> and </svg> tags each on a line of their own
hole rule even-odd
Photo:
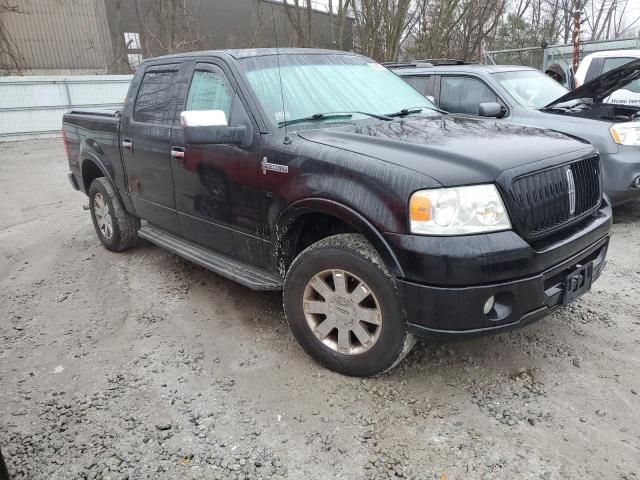
<svg viewBox="0 0 640 480">
<path fill-rule="evenodd" d="M 580 62 L 576 72 L 576 87 L 638 58 L 640 58 L 640 50 L 610 50 L 587 55 Z M 640 105 L 640 79 L 631 82 L 625 88 L 616 90 L 605 99 L 605 102 Z"/>
</svg>

